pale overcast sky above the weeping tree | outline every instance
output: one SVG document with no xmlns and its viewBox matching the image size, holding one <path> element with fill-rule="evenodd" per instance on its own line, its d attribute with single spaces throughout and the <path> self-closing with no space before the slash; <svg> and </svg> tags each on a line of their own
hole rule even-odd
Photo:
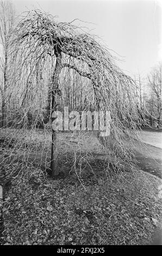
<svg viewBox="0 0 162 256">
<path fill-rule="evenodd" d="M 117 64 L 129 75 L 146 75 L 161 59 L 161 6 L 159 1 L 13 0 L 18 14 L 43 9 L 58 21 L 80 19 L 91 33 L 120 54 Z"/>
</svg>

